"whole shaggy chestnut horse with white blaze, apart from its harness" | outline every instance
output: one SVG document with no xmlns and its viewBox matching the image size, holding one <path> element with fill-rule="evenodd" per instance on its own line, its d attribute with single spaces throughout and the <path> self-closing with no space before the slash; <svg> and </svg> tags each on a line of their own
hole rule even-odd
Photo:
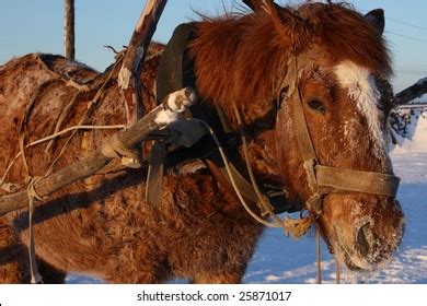
<svg viewBox="0 0 427 306">
<path fill-rule="evenodd" d="M 196 90 L 207 104 L 224 110 L 233 129 L 238 120 L 232 105 L 240 110 L 249 138 L 247 162 L 259 185 L 285 185 L 289 201 L 299 209 L 312 192 L 298 149 L 288 86 L 280 86 L 286 78 L 298 85 L 322 165 L 393 173 L 384 140 L 390 101 L 380 86 L 391 74 L 381 11 L 363 16 L 346 4 L 267 5 L 253 14 L 207 19 L 195 26 L 188 52 Z M 315 56 L 304 56 L 312 50 Z M 304 60 L 291 73 L 292 59 Z M 141 75 L 146 109 L 155 103 L 158 62 L 154 52 Z M 58 76 L 65 74 L 74 82 Z M 51 134 L 61 114 L 66 114 L 61 129 L 76 126 L 95 95 L 76 83 L 93 83 L 104 75 L 45 55 L 2 66 L 0 168 L 5 170 L 20 152 L 20 131 L 25 136 L 21 144 L 22 140 L 30 144 Z M 119 101 L 123 96 L 113 79 L 85 123 L 124 123 Z M 28 118 L 22 125 L 25 110 Z M 95 150 L 111 133 L 79 131 L 54 170 Z M 27 176 L 45 175 L 67 139 L 68 134 L 62 136 L 49 150 L 46 143 L 25 149 L 28 167 L 18 158 L 5 177 L 9 185 L 3 186 L 25 188 Z M 238 154 L 243 162 L 243 153 Z M 115 283 L 174 278 L 195 283 L 240 282 L 264 226 L 226 192 L 204 163 L 194 172 L 165 174 L 159 208 L 143 201 L 146 174 L 141 169 L 95 175 L 38 203 L 33 231 L 44 281 L 62 282 L 66 272 L 77 272 Z M 372 270 L 391 257 L 404 224 L 394 197 L 367 192 L 324 196 L 318 222 L 337 260 L 362 270 Z M 27 229 L 25 211 L 0 220 L 2 282 L 28 281 Z"/>
</svg>

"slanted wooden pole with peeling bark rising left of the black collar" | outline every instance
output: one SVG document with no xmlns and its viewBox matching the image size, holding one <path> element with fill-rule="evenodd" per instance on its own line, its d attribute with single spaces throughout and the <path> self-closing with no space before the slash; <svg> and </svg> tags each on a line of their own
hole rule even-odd
<svg viewBox="0 0 427 306">
<path fill-rule="evenodd" d="M 168 0 L 147 0 L 123 59 L 117 81 L 125 96 L 128 126 L 135 123 L 143 114 L 139 78 L 148 46 L 166 2 Z"/>
</svg>

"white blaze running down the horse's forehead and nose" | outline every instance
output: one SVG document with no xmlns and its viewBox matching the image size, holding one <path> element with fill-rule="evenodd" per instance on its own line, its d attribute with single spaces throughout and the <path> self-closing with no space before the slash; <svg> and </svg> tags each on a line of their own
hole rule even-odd
<svg viewBox="0 0 427 306">
<path fill-rule="evenodd" d="M 378 108 L 381 94 L 376 86 L 372 74 L 368 69 L 348 60 L 336 66 L 334 72 L 341 84 L 347 89 L 348 96 L 356 101 L 360 114 L 366 117 L 376 151 L 381 154 L 380 152 L 385 148 L 381 127 L 383 115 Z"/>
</svg>

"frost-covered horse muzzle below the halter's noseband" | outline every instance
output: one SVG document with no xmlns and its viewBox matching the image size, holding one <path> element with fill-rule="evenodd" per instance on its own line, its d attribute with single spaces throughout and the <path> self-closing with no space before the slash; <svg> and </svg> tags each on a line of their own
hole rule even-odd
<svg viewBox="0 0 427 306">
<path fill-rule="evenodd" d="M 327 223 L 333 225 L 325 224 L 330 227 L 327 232 L 336 259 L 350 270 L 378 269 L 392 257 L 402 240 L 404 217 L 399 202 L 379 198 L 384 197 L 370 197 L 367 201 L 347 199 L 347 203 L 342 202 L 348 205 L 345 212 L 332 212 L 335 217 Z M 334 205 L 325 202 L 325 210 L 334 210 Z"/>
</svg>

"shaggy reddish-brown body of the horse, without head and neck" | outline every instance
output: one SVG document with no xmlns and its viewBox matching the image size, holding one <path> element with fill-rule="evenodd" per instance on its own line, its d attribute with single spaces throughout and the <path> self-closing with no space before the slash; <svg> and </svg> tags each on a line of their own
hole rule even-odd
<svg viewBox="0 0 427 306">
<path fill-rule="evenodd" d="M 150 69 L 155 68 L 157 60 L 147 66 L 150 78 L 143 80 L 146 89 L 151 90 L 153 85 L 153 74 L 150 73 L 155 71 Z M 62 58 L 54 58 L 53 61 L 54 66 L 68 64 Z M 90 70 L 80 70 L 80 73 L 94 76 Z M 10 116 L 3 118 L 2 136 L 7 131 L 14 131 L 2 142 L 4 154 L 1 168 L 4 169 L 19 152 L 18 146 L 10 144 L 18 143 L 16 129 L 28 97 L 50 79 L 50 73 L 41 67 L 34 55 L 13 60 L 2 68 L 2 84 L 9 80 L 16 80 L 16 83 L 3 87 L 5 91 L 1 96 L 2 110 L 5 110 L 2 114 L 10 111 Z M 26 142 L 53 131 L 56 123 L 53 118 L 59 117 L 64 104 L 76 94 L 76 89 L 64 86 L 62 83 L 58 81 L 51 84 L 49 91 L 38 97 L 27 127 Z M 13 96 L 14 92 L 20 92 L 20 96 L 10 104 L 3 99 L 4 96 Z M 145 102 L 147 108 L 152 108 L 154 102 L 149 94 L 145 92 Z M 91 98 L 93 93 L 81 95 L 67 126 L 77 125 Z M 126 117 L 117 101 L 118 91 L 112 86 L 90 123 L 123 122 Z M 8 105 L 13 105 L 14 109 L 8 108 Z M 45 105 L 48 107 L 45 108 Z M 95 150 L 96 144 L 109 133 L 93 131 L 79 134 L 57 168 Z M 61 149 L 65 139 L 56 143 L 53 156 Z M 33 176 L 44 175 L 50 163 L 44 146 L 27 152 Z M 24 181 L 25 173 L 20 163 L 13 167 L 8 181 Z M 163 203 L 159 210 L 142 201 L 145 179 L 145 170 L 129 169 L 94 176 L 56 193 L 53 201 L 39 205 L 34 213 L 37 256 L 46 258 L 62 271 L 95 274 L 108 282 L 150 283 L 172 276 L 191 278 L 195 282 L 239 282 L 262 232 L 261 226 L 236 203 L 224 202 L 216 181 L 207 173 L 166 176 Z M 18 247 L 21 246 L 18 244 L 19 236 L 26 242 L 26 213 L 8 215 L 1 222 L 2 254 L 14 248 L 21 251 L 19 256 L 7 254 L 11 258 L 1 261 L 3 272 L 0 275 L 4 282 L 28 281 L 27 272 L 23 269 L 27 268 L 26 251 Z M 16 236 L 11 235 L 9 222 L 13 224 Z M 209 249 L 209 252 L 203 249 Z M 16 259 L 21 262 L 16 263 Z M 50 279 L 56 281 L 57 275 L 61 274 L 59 269 L 48 269 L 47 275 L 44 275 L 44 268 L 42 264 L 41 273 L 47 282 Z"/>
</svg>

